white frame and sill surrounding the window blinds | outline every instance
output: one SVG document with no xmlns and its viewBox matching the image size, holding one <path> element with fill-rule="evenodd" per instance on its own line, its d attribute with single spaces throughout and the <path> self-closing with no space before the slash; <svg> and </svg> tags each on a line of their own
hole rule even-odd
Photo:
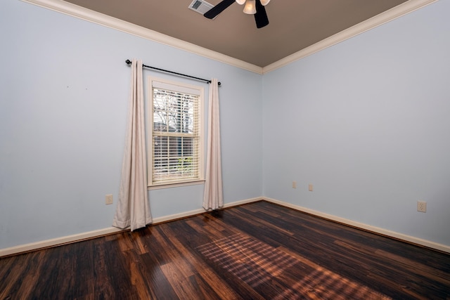
<svg viewBox="0 0 450 300">
<path fill-rule="evenodd" d="M 169 91 L 179 93 L 190 93 L 195 91 L 198 94 L 198 177 L 196 178 L 175 178 L 169 181 L 153 182 L 154 145 L 153 145 L 153 111 L 155 86 L 166 86 Z M 158 88 L 158 87 L 157 87 Z M 161 89 L 161 87 L 160 87 Z M 175 186 L 194 185 L 205 183 L 205 89 L 203 86 L 186 84 L 185 82 L 172 81 L 160 77 L 148 76 L 147 104 L 147 185 L 148 189 L 172 188 Z"/>
</svg>

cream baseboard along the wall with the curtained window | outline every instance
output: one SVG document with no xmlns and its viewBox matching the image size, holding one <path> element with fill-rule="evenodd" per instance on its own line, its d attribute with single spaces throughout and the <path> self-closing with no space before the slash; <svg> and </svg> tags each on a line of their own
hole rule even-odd
<svg viewBox="0 0 450 300">
<path fill-rule="evenodd" d="M 255 201 L 259 201 L 259 200 L 263 200 L 263 198 L 257 197 L 257 198 L 251 198 L 251 199 L 245 199 L 245 200 L 240 200 L 240 201 L 236 201 L 236 202 L 226 203 L 226 204 L 224 204 L 224 208 L 234 207 L 236 205 L 255 202 Z M 196 214 L 201 214 L 203 212 L 205 212 L 205 209 L 202 208 L 202 209 L 195 209 L 193 211 L 186 211 L 186 212 L 183 212 L 180 214 L 172 214 L 169 216 L 162 216 L 162 217 L 153 219 L 153 224 L 158 224 L 158 223 L 162 223 L 162 222 L 181 219 L 181 218 L 185 218 L 187 216 L 194 216 Z M 19 254 L 19 253 L 23 253 L 23 252 L 30 252 L 30 251 L 34 251 L 37 249 L 47 248 L 47 247 L 54 247 L 54 246 L 58 246 L 60 244 L 69 244 L 69 243 L 77 242 L 80 240 L 87 240 L 87 239 L 94 238 L 94 237 L 101 237 L 103 235 L 109 235 L 111 233 L 120 233 L 121 231 L 123 231 L 123 229 L 115 228 L 115 227 L 108 227 L 108 228 L 88 231 L 86 233 L 78 233 L 76 235 L 67 235 L 65 237 L 56 237 L 56 238 L 50 239 L 50 240 L 32 242 L 30 244 L 20 244 L 15 247 L 0 249 L 0 257 L 7 256 L 7 255 L 13 255 L 13 254 Z"/>
</svg>

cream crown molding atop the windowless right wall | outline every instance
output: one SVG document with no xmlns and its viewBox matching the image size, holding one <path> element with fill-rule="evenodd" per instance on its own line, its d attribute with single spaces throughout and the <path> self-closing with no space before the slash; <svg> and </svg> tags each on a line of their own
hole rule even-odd
<svg viewBox="0 0 450 300">
<path fill-rule="evenodd" d="M 409 0 L 400 4 L 399 6 L 395 6 L 388 11 L 380 13 L 379 15 L 375 15 L 373 18 L 360 22 L 347 30 L 342 30 L 342 32 L 338 32 L 337 34 L 332 35 L 322 41 L 317 42 L 314 45 L 311 45 L 307 48 L 304 48 L 296 53 L 291 54 L 290 56 L 286 56 L 281 60 L 276 61 L 275 63 L 271 63 L 270 65 L 266 65 L 266 67 L 262 68 L 262 73 L 266 74 L 268 72 L 274 71 L 280 67 L 284 67 L 285 65 L 289 65 L 290 63 L 295 62 L 296 60 L 300 60 L 311 54 L 319 52 L 325 48 L 333 46 L 335 44 L 340 43 L 341 41 L 345 41 L 350 39 L 358 34 L 371 30 L 375 27 L 383 25 L 387 22 L 400 18 L 402 15 L 406 15 L 413 11 L 417 11 L 424 6 L 428 6 L 434 2 L 439 0 Z"/>
</svg>

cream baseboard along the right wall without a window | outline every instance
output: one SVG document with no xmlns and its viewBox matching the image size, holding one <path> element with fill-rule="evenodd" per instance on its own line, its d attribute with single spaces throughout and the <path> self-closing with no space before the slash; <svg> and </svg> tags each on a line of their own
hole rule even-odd
<svg viewBox="0 0 450 300">
<path fill-rule="evenodd" d="M 328 220 L 331 220 L 331 221 L 336 221 L 336 222 L 339 222 L 339 223 L 343 223 L 343 224 L 346 224 L 348 226 L 352 226 L 352 227 L 355 227 L 355 228 L 368 230 L 368 231 L 371 231 L 373 233 L 378 233 L 380 235 L 386 235 L 388 237 L 393 237 L 395 239 L 403 240 L 405 242 L 411 242 L 413 244 L 418 244 L 418 245 L 425 246 L 425 247 L 432 248 L 432 249 L 436 249 L 436 250 L 439 250 L 439 251 L 442 251 L 442 252 L 450 253 L 450 246 L 447 246 L 445 244 L 438 244 L 437 242 L 431 242 L 429 240 L 423 240 L 423 239 L 420 239 L 418 237 L 412 237 L 411 235 L 404 235 L 403 233 L 396 233 L 396 232 L 391 231 L 391 230 L 386 230 L 386 229 L 383 229 L 383 228 L 367 225 L 367 224 L 364 224 L 364 223 L 355 222 L 355 221 L 352 221 L 352 220 L 349 220 L 349 219 L 340 218 L 339 216 L 333 216 L 331 214 L 325 214 L 325 213 L 323 213 L 321 211 L 315 211 L 314 209 L 307 209 L 306 207 L 300 207 L 300 206 L 295 205 L 295 204 L 291 204 L 291 203 L 288 203 L 288 202 L 283 202 L 283 201 L 280 201 L 280 200 L 271 199 L 271 198 L 268 198 L 268 197 L 262 197 L 262 200 L 265 200 L 267 202 L 272 202 L 272 203 L 275 203 L 275 204 L 280 204 L 283 207 L 290 207 L 290 208 L 298 210 L 298 211 L 304 211 L 304 212 L 306 212 L 308 214 L 312 214 L 314 216 L 320 216 L 320 217 L 322 217 L 324 219 L 328 219 Z"/>
</svg>

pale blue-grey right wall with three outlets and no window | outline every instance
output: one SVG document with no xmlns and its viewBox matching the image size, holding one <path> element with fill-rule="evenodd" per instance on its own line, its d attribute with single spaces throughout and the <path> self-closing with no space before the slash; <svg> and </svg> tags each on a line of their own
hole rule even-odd
<svg viewBox="0 0 450 300">
<path fill-rule="evenodd" d="M 264 196 L 450 245 L 448 11 L 438 1 L 264 75 Z"/>
</svg>

